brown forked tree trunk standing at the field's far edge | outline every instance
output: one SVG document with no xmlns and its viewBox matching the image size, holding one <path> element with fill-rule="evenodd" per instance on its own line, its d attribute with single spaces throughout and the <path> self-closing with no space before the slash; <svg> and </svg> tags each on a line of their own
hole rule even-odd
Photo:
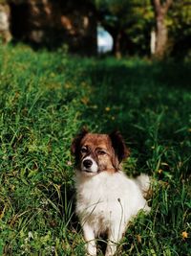
<svg viewBox="0 0 191 256">
<path fill-rule="evenodd" d="M 173 3 L 173 0 L 153 0 L 152 4 L 156 17 L 156 49 L 154 52 L 155 58 L 164 58 L 167 50 L 168 28 L 166 26 L 166 15 Z"/>
</svg>

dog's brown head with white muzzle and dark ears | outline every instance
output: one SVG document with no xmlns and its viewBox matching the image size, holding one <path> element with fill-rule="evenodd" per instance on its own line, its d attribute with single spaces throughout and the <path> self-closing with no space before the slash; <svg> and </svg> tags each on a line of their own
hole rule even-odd
<svg viewBox="0 0 191 256">
<path fill-rule="evenodd" d="M 74 138 L 71 150 L 76 168 L 84 175 L 117 172 L 120 162 L 129 155 L 118 131 L 108 135 L 90 133 L 83 129 Z"/>
</svg>

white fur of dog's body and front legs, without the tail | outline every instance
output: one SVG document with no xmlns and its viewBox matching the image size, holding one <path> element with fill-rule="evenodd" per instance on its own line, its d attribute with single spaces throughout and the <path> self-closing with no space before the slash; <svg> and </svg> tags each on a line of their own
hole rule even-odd
<svg viewBox="0 0 191 256">
<path fill-rule="evenodd" d="M 76 171 L 76 213 L 88 255 L 96 256 L 96 237 L 104 232 L 109 239 L 105 255 L 114 255 L 128 222 L 140 209 L 150 210 L 138 182 L 120 171 L 92 176 Z"/>
</svg>

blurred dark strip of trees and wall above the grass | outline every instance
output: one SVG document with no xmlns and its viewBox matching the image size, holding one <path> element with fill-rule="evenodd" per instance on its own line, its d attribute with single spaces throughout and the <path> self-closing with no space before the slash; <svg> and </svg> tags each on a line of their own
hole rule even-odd
<svg viewBox="0 0 191 256">
<path fill-rule="evenodd" d="M 117 58 L 189 58 L 190 0 L 0 0 L 0 37 Z"/>
</svg>

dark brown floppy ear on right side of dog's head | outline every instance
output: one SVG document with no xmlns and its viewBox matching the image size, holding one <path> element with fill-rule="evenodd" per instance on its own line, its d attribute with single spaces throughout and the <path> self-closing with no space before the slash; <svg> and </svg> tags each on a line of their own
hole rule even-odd
<svg viewBox="0 0 191 256">
<path fill-rule="evenodd" d="M 120 132 L 114 131 L 110 135 L 112 146 L 117 154 L 118 162 L 120 163 L 123 159 L 129 156 L 130 151 L 127 149 L 124 139 Z"/>
</svg>

